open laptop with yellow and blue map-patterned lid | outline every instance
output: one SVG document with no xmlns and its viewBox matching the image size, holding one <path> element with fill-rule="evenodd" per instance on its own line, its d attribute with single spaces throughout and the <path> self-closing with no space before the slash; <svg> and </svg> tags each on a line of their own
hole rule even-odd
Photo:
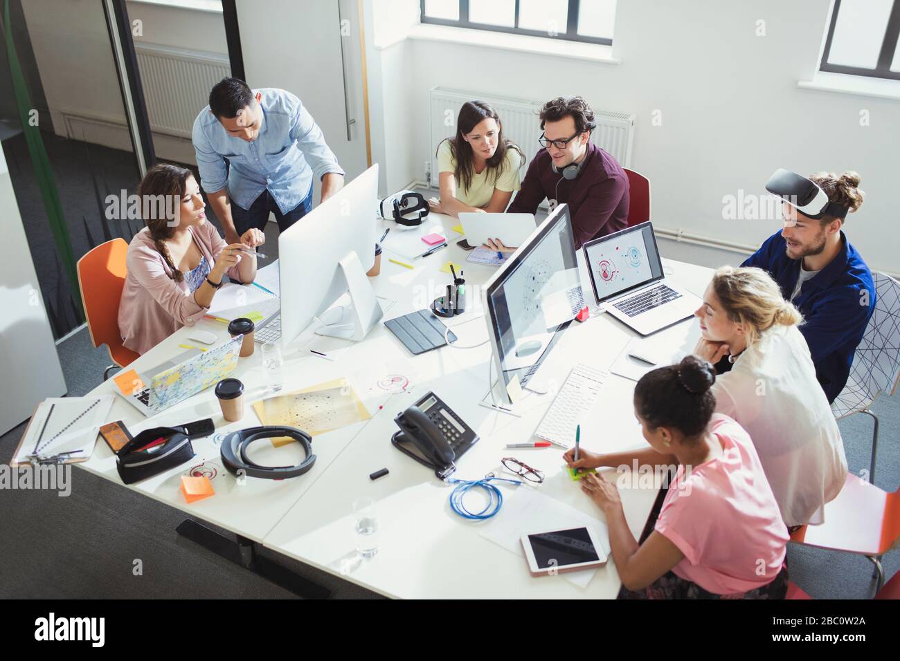
<svg viewBox="0 0 900 661">
<path fill-rule="evenodd" d="M 118 388 L 114 389 L 115 393 L 143 415 L 157 415 L 229 376 L 238 367 L 243 339 L 244 335 L 237 335 L 225 344 L 200 352 L 163 371 L 157 371 L 149 379 L 140 376 L 129 395 Z M 161 366 L 157 370 L 159 367 Z"/>
</svg>

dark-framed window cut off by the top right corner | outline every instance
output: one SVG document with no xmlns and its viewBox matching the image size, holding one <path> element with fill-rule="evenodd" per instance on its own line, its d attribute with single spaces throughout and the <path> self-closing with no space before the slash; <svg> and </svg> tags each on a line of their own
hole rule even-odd
<svg viewBox="0 0 900 661">
<path fill-rule="evenodd" d="M 834 0 L 822 71 L 900 80 L 900 0 Z"/>
</svg>

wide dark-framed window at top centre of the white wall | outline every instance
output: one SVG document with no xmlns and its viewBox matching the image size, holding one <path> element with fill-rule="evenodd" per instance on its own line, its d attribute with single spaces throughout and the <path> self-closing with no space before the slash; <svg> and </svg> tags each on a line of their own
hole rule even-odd
<svg viewBox="0 0 900 661">
<path fill-rule="evenodd" d="M 421 0 L 422 22 L 610 45 L 617 0 Z"/>
</svg>

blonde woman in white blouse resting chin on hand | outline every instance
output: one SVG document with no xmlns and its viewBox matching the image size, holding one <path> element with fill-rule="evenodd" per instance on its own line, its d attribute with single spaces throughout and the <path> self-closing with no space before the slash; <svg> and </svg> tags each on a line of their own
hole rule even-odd
<svg viewBox="0 0 900 661">
<path fill-rule="evenodd" d="M 732 266 L 716 271 L 694 315 L 702 334 L 694 353 L 733 363 L 713 385 L 716 412 L 750 433 L 788 528 L 823 523 L 847 460 L 797 328 L 803 317 L 767 272 Z"/>
</svg>

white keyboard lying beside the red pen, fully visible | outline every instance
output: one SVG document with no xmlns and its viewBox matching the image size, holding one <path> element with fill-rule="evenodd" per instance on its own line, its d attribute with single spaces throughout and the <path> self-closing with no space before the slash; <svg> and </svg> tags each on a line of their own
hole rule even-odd
<svg viewBox="0 0 900 661">
<path fill-rule="evenodd" d="M 535 435 L 561 448 L 571 448 L 575 444 L 575 428 L 584 414 L 597 403 L 600 387 L 607 375 L 607 371 L 595 370 L 581 363 L 575 365 L 541 424 L 537 425 Z"/>
</svg>

